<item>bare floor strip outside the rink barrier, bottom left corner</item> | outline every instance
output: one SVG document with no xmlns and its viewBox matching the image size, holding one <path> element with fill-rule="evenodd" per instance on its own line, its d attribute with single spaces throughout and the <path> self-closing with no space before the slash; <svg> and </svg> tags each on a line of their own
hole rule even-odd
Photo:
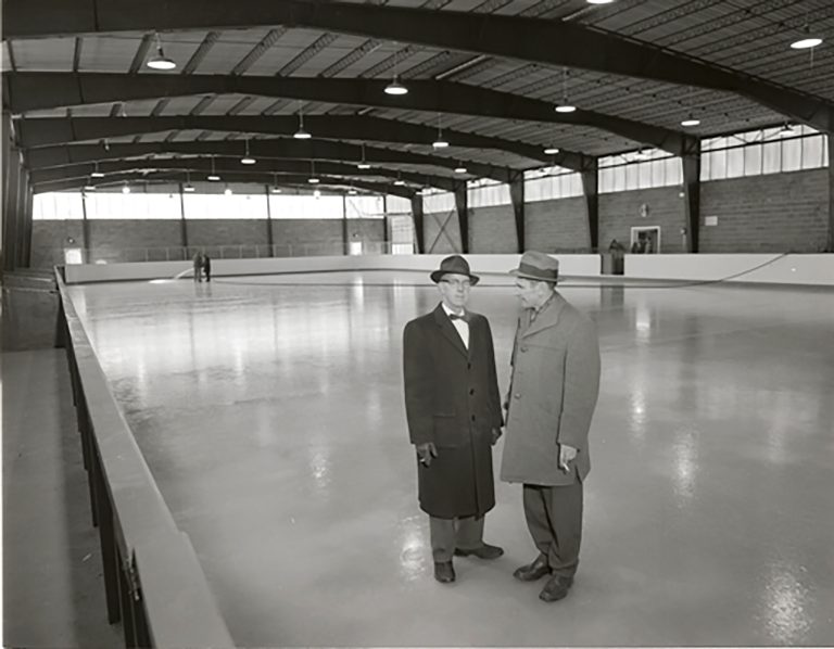
<svg viewBox="0 0 834 649">
<path fill-rule="evenodd" d="M 66 353 L 0 355 L 3 647 L 112 649 Z"/>
</svg>

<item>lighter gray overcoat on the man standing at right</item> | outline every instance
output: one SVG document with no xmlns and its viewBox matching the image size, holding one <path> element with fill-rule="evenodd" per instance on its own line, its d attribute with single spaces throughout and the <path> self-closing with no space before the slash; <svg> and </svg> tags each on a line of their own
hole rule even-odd
<svg viewBox="0 0 834 649">
<path fill-rule="evenodd" d="M 557 486 L 591 470 L 587 432 L 599 393 L 594 322 L 556 293 L 530 321 L 518 320 L 501 480 Z M 578 449 L 572 471 L 559 469 L 559 444 Z"/>
</svg>

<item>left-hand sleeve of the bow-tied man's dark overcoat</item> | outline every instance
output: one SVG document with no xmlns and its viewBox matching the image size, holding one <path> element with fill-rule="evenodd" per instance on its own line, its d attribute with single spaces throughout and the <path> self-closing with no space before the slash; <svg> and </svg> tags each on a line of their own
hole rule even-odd
<svg viewBox="0 0 834 649">
<path fill-rule="evenodd" d="M 412 444 L 434 442 L 431 354 L 426 336 L 415 321 L 408 322 L 403 332 L 403 382 L 405 416 Z"/>
</svg>

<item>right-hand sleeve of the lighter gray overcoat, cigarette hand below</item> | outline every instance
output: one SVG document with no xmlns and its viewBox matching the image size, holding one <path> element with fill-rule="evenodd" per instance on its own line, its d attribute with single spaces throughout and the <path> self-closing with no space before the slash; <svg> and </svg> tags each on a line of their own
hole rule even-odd
<svg viewBox="0 0 834 649">
<path fill-rule="evenodd" d="M 593 322 L 578 324 L 565 357 L 563 409 L 557 442 L 578 449 L 587 445 L 587 431 L 599 395 L 599 341 Z"/>
</svg>

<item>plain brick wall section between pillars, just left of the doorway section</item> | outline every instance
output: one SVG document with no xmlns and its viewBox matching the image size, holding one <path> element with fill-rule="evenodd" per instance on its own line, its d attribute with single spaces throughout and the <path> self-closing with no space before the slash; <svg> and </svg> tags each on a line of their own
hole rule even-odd
<svg viewBox="0 0 834 649">
<path fill-rule="evenodd" d="M 527 250 L 587 252 L 591 246 L 589 232 L 584 196 L 525 205 Z"/>
</svg>

